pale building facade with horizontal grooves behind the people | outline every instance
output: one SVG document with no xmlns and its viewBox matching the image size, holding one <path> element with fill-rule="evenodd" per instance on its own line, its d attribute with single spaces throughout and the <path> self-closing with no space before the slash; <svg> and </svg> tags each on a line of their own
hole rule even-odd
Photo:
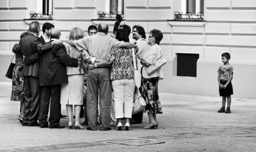
<svg viewBox="0 0 256 152">
<path fill-rule="evenodd" d="M 10 82 L 4 76 L 13 56 L 12 47 L 28 29 L 29 22 L 37 20 L 41 25 L 51 22 L 61 30 L 61 39 L 66 41 L 73 27 L 87 31 L 89 25 L 106 23 L 112 33 L 115 18 L 110 18 L 109 13 L 105 14 L 106 18 L 100 15 L 121 10 L 121 24 L 143 26 L 147 39 L 154 28 L 163 32 L 160 47 L 168 62 L 163 67 L 164 79 L 158 86 L 160 92 L 218 96 L 217 70 L 222 65 L 221 54 L 228 52 L 234 68 L 233 97 L 255 99 L 255 0 L 113 1 L 1 0 L 0 81 Z M 196 21 L 185 19 L 190 17 L 182 12 L 188 10 L 194 14 L 193 18 L 198 18 Z M 204 19 L 199 18 L 199 11 Z M 30 19 L 30 14 L 38 12 L 50 19 Z"/>
</svg>

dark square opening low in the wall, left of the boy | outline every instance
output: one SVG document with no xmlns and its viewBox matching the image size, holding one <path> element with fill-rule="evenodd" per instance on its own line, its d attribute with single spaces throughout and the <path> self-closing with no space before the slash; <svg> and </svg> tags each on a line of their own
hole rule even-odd
<svg viewBox="0 0 256 152">
<path fill-rule="evenodd" d="M 177 53 L 177 76 L 196 77 L 196 63 L 199 54 Z"/>
</svg>

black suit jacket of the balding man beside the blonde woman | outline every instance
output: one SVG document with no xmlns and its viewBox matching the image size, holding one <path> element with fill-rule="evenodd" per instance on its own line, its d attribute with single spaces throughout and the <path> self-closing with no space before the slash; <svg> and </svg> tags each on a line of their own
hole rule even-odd
<svg viewBox="0 0 256 152">
<path fill-rule="evenodd" d="M 71 67 L 78 66 L 78 59 L 68 56 L 63 44 L 55 44 L 52 47 L 52 51 L 41 53 L 40 61 L 40 86 L 68 83 L 66 65 Z"/>
</svg>

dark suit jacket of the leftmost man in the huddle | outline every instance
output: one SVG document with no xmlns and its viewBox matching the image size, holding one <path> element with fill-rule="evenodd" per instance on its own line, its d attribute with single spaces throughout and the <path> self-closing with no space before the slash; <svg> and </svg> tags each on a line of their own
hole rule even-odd
<svg viewBox="0 0 256 152">
<path fill-rule="evenodd" d="M 41 52 L 41 51 L 46 51 L 52 48 L 51 43 L 47 45 L 42 45 L 38 36 L 35 36 L 32 33 L 27 33 L 26 36 L 21 38 L 19 42 L 19 46 L 20 46 L 20 50 L 15 49 L 13 50 L 13 53 L 21 53 L 25 57 L 34 55 L 35 53 L 37 53 L 37 51 Z M 39 60 L 35 60 L 35 62 L 33 62 L 32 64 L 25 63 L 23 68 L 23 76 L 34 76 L 38 78 L 39 66 L 40 66 Z"/>
</svg>

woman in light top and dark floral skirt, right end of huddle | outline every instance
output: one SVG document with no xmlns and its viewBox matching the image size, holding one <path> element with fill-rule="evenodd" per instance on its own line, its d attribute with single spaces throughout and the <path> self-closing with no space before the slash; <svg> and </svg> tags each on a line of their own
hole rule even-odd
<svg viewBox="0 0 256 152">
<path fill-rule="evenodd" d="M 145 67 L 149 67 L 155 61 L 157 53 L 162 54 L 162 49 L 159 47 L 160 41 L 163 39 L 163 33 L 160 30 L 151 30 L 149 35 L 149 48 L 145 53 L 141 64 L 144 67 L 141 69 L 141 96 L 146 102 L 144 111 L 148 113 L 149 124 L 144 129 L 154 129 L 158 126 L 157 113 L 162 113 L 162 107 L 158 96 L 158 80 L 163 79 L 162 68 L 159 68 L 155 73 L 149 75 Z"/>
</svg>

